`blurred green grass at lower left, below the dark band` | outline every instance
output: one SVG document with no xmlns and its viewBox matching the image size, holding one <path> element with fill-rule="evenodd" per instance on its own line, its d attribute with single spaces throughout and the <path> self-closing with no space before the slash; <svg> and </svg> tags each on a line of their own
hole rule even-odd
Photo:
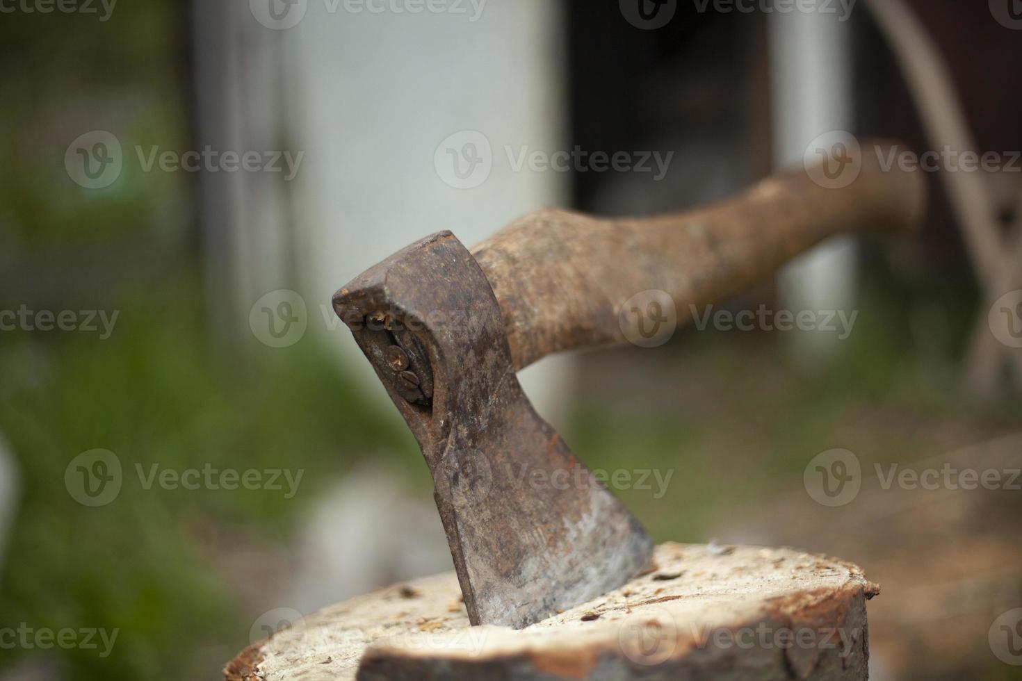
<svg viewBox="0 0 1022 681">
<path fill-rule="evenodd" d="M 2 621 L 121 630 L 106 660 L 54 649 L 72 678 L 156 678 L 181 670 L 183 654 L 212 648 L 193 670 L 207 674 L 211 660 L 247 645 L 252 616 L 202 551 L 203 533 L 250 533 L 284 551 L 303 505 L 361 457 L 418 458 L 396 415 L 367 406 L 312 341 L 262 360 L 210 347 L 196 280 L 178 276 L 125 300 L 105 341 L 0 338 L 0 432 L 22 482 L 0 575 Z M 92 448 L 113 451 L 125 480 L 114 501 L 95 508 L 63 483 L 71 459 Z M 305 476 L 292 499 L 268 490 L 145 490 L 136 464 Z M 0 669 L 33 652 L 0 651 Z"/>
</svg>

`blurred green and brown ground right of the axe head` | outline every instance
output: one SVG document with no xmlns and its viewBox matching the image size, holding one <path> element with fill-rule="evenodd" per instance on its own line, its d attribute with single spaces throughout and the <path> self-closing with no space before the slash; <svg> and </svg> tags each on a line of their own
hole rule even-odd
<svg viewBox="0 0 1022 681">
<path fill-rule="evenodd" d="M 621 492 L 659 541 L 792 545 L 862 566 L 882 588 L 869 604 L 872 678 L 1020 678 L 987 640 L 1022 603 L 1020 402 L 970 400 L 949 355 L 899 348 L 896 327 L 875 324 L 879 309 L 867 299 L 854 340 L 812 372 L 764 334 L 690 331 L 671 354 L 592 356 L 572 446 L 594 467 L 675 472 L 663 502 Z M 862 490 L 827 507 L 803 473 L 835 448 L 861 460 Z M 905 489 L 884 482 L 894 465 L 1016 479 L 993 491 Z"/>
</svg>

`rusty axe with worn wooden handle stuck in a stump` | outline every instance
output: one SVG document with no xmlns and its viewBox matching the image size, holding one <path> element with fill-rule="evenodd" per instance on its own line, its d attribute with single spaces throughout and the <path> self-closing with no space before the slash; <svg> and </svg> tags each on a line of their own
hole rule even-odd
<svg viewBox="0 0 1022 681">
<path fill-rule="evenodd" d="M 473 625 L 518 629 L 598 597 L 652 551 L 515 373 L 554 352 L 625 342 L 634 310 L 622 305 L 642 292 L 669 296 L 684 323 L 690 305 L 726 301 L 830 236 L 916 227 L 923 178 L 884 171 L 879 157 L 842 159 L 858 175 L 841 188 L 814 180 L 834 177 L 825 159 L 681 214 L 541 210 L 471 250 L 438 232 L 334 295 L 422 449 Z"/>
</svg>

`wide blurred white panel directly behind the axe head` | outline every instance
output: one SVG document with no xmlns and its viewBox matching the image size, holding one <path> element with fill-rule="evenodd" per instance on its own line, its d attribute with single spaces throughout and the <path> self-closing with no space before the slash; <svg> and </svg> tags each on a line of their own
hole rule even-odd
<svg viewBox="0 0 1022 681">
<path fill-rule="evenodd" d="M 503 149 L 565 148 L 560 2 L 437 6 L 465 12 L 353 12 L 344 2 L 332 11 L 328 0 L 310 0 L 303 20 L 281 32 L 288 130 L 306 151 L 292 208 L 310 331 L 332 326 L 327 342 L 379 399 L 346 329 L 320 307 L 333 291 L 427 234 L 449 229 L 471 247 L 567 197 L 565 174 L 516 173 Z M 461 131 L 481 133 L 492 148 L 493 171 L 471 189 L 449 186 L 434 167 L 437 146 Z M 552 358 L 522 376 L 554 422 L 569 374 L 569 359 Z"/>
</svg>

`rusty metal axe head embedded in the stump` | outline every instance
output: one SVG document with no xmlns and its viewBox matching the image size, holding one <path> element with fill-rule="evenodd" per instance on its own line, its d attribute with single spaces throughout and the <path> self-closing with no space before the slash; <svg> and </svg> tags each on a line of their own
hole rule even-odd
<svg viewBox="0 0 1022 681">
<path fill-rule="evenodd" d="M 333 305 L 422 448 L 473 624 L 524 627 L 646 566 L 646 532 L 522 392 L 497 298 L 454 235 L 391 255 Z"/>
</svg>

